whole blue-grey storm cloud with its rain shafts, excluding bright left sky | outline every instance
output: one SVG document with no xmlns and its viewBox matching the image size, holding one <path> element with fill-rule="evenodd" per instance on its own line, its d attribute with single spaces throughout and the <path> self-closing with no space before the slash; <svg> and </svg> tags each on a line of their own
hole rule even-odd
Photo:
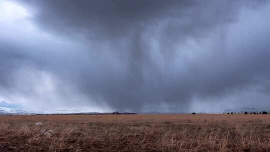
<svg viewBox="0 0 270 152">
<path fill-rule="evenodd" d="M 41 49 L 34 42 L 39 53 L 23 47 L 24 51 L 1 51 L 2 58 L 28 60 L 89 100 L 113 109 L 140 111 L 166 104 L 183 111 L 194 98 L 218 100 L 255 86 L 268 88 L 269 20 L 244 25 L 268 7 L 265 1 L 17 2 L 34 10 L 32 20 L 41 30 L 75 44 L 48 42 L 47 48 L 40 42 Z M 259 25 L 262 28 L 250 28 Z M 9 71 L 10 65 L 3 64 L 1 70 Z M 2 83 L 11 81 L 1 77 Z"/>
</svg>

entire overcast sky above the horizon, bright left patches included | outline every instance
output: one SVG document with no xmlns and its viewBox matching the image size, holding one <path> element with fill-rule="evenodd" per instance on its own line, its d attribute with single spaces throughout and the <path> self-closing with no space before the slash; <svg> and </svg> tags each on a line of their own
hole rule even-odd
<svg viewBox="0 0 270 152">
<path fill-rule="evenodd" d="M 270 109 L 267 0 L 0 0 L 0 101 Z"/>
</svg>

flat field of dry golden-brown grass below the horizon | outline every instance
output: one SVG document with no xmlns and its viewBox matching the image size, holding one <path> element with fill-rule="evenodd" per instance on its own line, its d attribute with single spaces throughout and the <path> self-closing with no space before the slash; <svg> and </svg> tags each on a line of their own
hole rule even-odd
<svg viewBox="0 0 270 152">
<path fill-rule="evenodd" d="M 270 151 L 270 115 L 0 116 L 0 151 Z"/>
</svg>

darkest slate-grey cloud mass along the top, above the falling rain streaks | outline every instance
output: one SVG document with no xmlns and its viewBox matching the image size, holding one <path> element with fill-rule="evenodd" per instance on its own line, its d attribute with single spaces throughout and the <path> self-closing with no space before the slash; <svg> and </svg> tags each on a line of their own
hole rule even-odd
<svg viewBox="0 0 270 152">
<path fill-rule="evenodd" d="M 164 24 L 160 32 L 166 41 L 205 36 L 216 25 L 233 21 L 243 5 L 233 0 L 27 0 L 26 3 L 36 8 L 35 21 L 46 30 L 92 40 L 136 39 L 145 30 Z"/>
</svg>

